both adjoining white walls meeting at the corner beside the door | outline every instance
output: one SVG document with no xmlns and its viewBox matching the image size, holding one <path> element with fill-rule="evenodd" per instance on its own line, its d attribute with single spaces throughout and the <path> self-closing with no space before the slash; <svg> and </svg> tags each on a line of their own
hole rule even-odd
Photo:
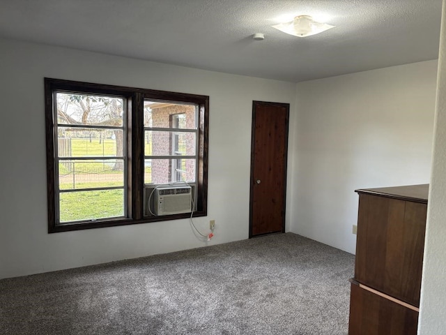
<svg viewBox="0 0 446 335">
<path fill-rule="evenodd" d="M 210 244 L 248 236 L 253 100 L 291 103 L 287 231 L 354 253 L 355 188 L 429 182 L 436 61 L 296 85 L 13 40 L 0 50 L 0 278 L 206 245 L 187 220 L 47 234 L 43 77 L 209 95 L 208 217 L 195 221 L 216 220 Z"/>
</svg>

